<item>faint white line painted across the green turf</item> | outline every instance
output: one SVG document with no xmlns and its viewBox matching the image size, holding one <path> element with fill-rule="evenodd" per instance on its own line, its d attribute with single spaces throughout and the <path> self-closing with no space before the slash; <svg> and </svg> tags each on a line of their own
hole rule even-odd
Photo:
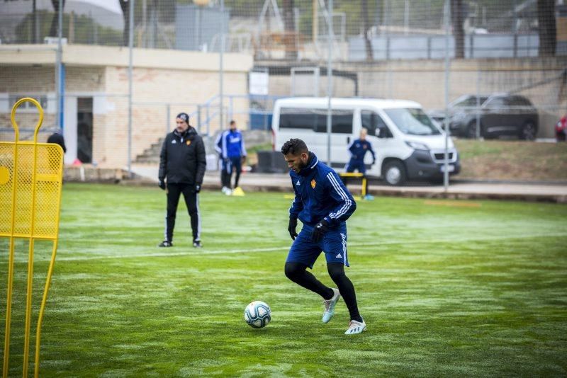
<svg viewBox="0 0 567 378">
<path fill-rule="evenodd" d="M 376 243 L 349 243 L 349 248 L 352 247 L 376 247 L 384 245 L 396 244 L 437 244 L 458 242 L 463 243 L 467 241 L 498 241 L 498 240 L 512 240 L 512 239 L 531 239 L 531 238 L 544 238 L 544 237 L 565 237 L 567 233 L 556 234 L 532 234 L 532 235 L 516 235 L 516 236 L 489 236 L 489 237 L 474 237 L 463 239 L 430 239 L 430 240 L 413 240 L 413 241 L 377 241 Z M 274 246 L 264 248 L 245 248 L 245 249 L 220 249 L 217 251 L 206 250 L 193 250 L 183 252 L 156 252 L 156 253 L 135 253 L 135 254 L 121 254 L 121 255 L 99 255 L 99 256 L 73 256 L 57 258 L 57 261 L 82 261 L 82 260 L 104 260 L 115 258 L 146 258 L 146 257 L 175 257 L 175 256 L 199 256 L 199 255 L 218 255 L 230 253 L 260 253 L 260 252 L 275 252 L 285 251 L 290 248 L 291 244 L 286 246 Z"/>
</svg>

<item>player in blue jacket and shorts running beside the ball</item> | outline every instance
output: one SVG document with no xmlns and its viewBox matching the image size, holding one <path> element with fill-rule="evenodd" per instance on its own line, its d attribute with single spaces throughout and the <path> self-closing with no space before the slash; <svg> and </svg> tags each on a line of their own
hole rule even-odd
<svg viewBox="0 0 567 378">
<path fill-rule="evenodd" d="M 357 204 L 337 173 L 322 164 L 303 140 L 288 140 L 281 147 L 281 153 L 290 168 L 289 176 L 296 194 L 289 210 L 288 231 L 293 244 L 286 260 L 286 276 L 322 297 L 323 323 L 331 320 L 342 296 L 351 319 L 345 334 L 362 333 L 366 331 L 366 323 L 359 314 L 354 286 L 344 274 L 344 265 L 349 266 L 345 221 Z M 299 234 L 297 219 L 303 223 Z M 307 271 L 308 267 L 313 268 L 321 251 L 325 252 L 327 271 L 338 289 L 323 285 Z"/>
</svg>

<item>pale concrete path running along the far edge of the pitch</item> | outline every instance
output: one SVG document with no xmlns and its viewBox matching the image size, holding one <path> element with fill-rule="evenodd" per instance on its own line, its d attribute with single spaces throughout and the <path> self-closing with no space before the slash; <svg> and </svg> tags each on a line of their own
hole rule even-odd
<svg viewBox="0 0 567 378">
<path fill-rule="evenodd" d="M 157 166 L 133 166 L 133 173 L 139 183 L 157 183 Z M 246 191 L 274 191 L 292 193 L 291 180 L 281 173 L 242 173 L 240 186 Z M 220 190 L 220 173 L 208 171 L 203 188 Z M 360 193 L 361 186 L 349 184 L 352 193 Z M 410 183 L 409 186 L 393 187 L 381 181 L 369 185 L 372 195 L 391 195 L 402 197 L 453 198 L 453 199 L 500 199 L 530 200 L 546 202 L 567 202 L 567 183 L 490 183 L 471 181 L 451 181 L 447 192 L 443 185 L 429 183 Z"/>
</svg>

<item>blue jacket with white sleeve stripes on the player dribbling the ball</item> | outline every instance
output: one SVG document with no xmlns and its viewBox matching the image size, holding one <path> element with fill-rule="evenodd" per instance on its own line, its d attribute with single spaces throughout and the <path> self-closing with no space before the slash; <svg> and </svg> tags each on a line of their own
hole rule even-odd
<svg viewBox="0 0 567 378">
<path fill-rule="evenodd" d="M 309 157 L 308 166 L 299 173 L 293 169 L 289 171 L 296 193 L 289 217 L 299 218 L 303 224 L 312 227 L 325 219 L 330 227 L 338 227 L 357 209 L 357 203 L 337 172 L 322 164 L 313 152 Z"/>
</svg>

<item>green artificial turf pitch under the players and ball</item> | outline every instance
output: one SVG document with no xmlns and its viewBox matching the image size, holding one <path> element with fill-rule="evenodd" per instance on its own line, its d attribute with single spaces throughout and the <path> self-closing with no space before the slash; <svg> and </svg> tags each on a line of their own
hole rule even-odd
<svg viewBox="0 0 567 378">
<path fill-rule="evenodd" d="M 320 298 L 283 275 L 291 245 L 283 193 L 202 193 L 202 249 L 191 246 L 183 201 L 174 247 L 157 248 L 166 204 L 159 189 L 65 184 L 62 198 L 42 377 L 567 374 L 566 205 L 359 202 L 348 222 L 347 275 L 368 331 L 344 336 L 344 302 L 323 324 Z M 15 377 L 27 254 L 26 243 L 17 247 Z M 1 345 L 7 251 L 1 239 Z M 38 242 L 35 254 L 37 313 L 50 243 Z M 323 256 L 313 273 L 331 285 Z M 260 330 L 243 319 L 256 299 L 272 310 Z"/>
</svg>

